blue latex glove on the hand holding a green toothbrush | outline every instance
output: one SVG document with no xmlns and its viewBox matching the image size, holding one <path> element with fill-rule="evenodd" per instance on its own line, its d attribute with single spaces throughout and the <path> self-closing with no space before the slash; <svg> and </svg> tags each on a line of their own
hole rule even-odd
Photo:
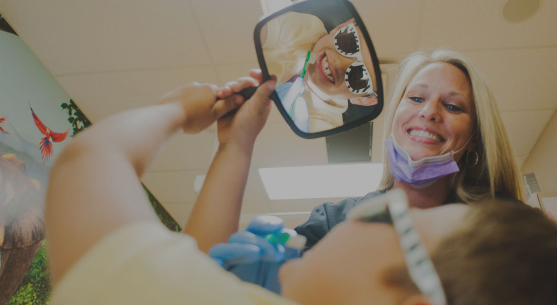
<svg viewBox="0 0 557 305">
<path fill-rule="evenodd" d="M 214 245 L 209 256 L 242 281 L 280 293 L 278 269 L 286 260 L 300 257 L 300 250 L 267 241 L 267 235 L 283 228 L 281 218 L 257 216 L 245 231 L 232 234 L 228 243 Z"/>
</svg>

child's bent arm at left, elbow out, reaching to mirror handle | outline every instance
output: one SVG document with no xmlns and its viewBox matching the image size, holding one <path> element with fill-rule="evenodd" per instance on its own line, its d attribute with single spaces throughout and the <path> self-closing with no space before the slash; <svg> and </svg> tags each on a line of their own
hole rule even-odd
<svg viewBox="0 0 557 305">
<path fill-rule="evenodd" d="M 65 147 L 51 170 L 46 198 L 54 283 L 106 234 L 129 223 L 158 221 L 139 177 L 176 131 L 201 131 L 241 104 L 237 96 L 217 100 L 217 91 L 212 85 L 184 86 L 165 95 L 164 104 L 116 114 Z"/>
</svg>

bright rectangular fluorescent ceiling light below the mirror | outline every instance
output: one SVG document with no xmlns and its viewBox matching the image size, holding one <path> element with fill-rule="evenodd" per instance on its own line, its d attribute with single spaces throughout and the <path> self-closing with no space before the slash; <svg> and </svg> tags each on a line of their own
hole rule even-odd
<svg viewBox="0 0 557 305">
<path fill-rule="evenodd" d="M 377 190 L 383 164 L 343 164 L 262 168 L 271 200 L 363 196 Z"/>
</svg>

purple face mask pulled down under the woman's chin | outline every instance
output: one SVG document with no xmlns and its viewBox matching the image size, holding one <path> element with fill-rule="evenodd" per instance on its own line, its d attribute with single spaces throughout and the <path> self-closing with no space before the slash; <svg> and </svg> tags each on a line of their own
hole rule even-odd
<svg viewBox="0 0 557 305">
<path fill-rule="evenodd" d="M 393 136 L 385 141 L 385 148 L 390 173 L 393 177 L 400 182 L 409 183 L 417 189 L 426 188 L 439 178 L 460 171 L 453 158 L 455 151 L 414 161 L 408 152 L 398 145 Z"/>
</svg>

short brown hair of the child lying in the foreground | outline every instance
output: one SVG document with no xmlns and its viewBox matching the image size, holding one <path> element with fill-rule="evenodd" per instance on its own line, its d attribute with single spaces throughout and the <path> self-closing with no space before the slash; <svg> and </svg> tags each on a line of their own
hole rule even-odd
<svg viewBox="0 0 557 305">
<path fill-rule="evenodd" d="M 475 204 L 432 262 L 450 305 L 557 304 L 557 223 L 526 204 Z M 385 282 L 406 296 L 419 293 L 402 267 Z"/>
</svg>

